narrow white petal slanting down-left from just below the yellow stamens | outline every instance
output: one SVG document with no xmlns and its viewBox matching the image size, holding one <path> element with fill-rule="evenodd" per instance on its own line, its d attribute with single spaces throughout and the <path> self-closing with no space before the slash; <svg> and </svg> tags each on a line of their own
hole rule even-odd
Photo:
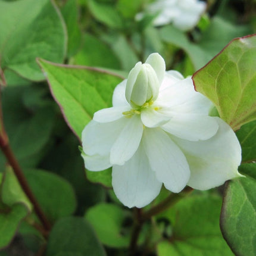
<svg viewBox="0 0 256 256">
<path fill-rule="evenodd" d="M 143 133 L 143 124 L 139 115 L 133 115 L 118 135 L 110 151 L 110 163 L 122 166 L 137 151 Z"/>
</svg>

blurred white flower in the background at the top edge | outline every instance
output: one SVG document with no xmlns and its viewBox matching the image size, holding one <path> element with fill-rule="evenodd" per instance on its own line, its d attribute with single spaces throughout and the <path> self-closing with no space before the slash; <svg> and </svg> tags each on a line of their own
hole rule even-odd
<svg viewBox="0 0 256 256">
<path fill-rule="evenodd" d="M 146 8 L 146 12 L 157 14 L 155 26 L 173 23 L 180 30 L 190 30 L 198 23 L 207 4 L 198 0 L 157 0 Z M 143 14 L 137 16 L 142 18 Z"/>
</svg>

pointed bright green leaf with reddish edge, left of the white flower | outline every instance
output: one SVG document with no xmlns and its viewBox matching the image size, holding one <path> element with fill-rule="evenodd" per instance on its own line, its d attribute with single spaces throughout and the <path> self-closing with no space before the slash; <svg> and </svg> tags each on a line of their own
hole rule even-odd
<svg viewBox="0 0 256 256">
<path fill-rule="evenodd" d="M 78 138 L 96 111 L 111 106 L 114 88 L 123 80 L 96 68 L 58 65 L 45 60 L 39 60 L 39 64 L 68 126 Z"/>
</svg>

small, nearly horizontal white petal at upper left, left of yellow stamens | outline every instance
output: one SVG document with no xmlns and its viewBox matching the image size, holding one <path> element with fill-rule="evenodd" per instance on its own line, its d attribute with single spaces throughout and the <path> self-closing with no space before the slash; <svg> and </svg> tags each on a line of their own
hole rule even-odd
<svg viewBox="0 0 256 256">
<path fill-rule="evenodd" d="M 98 123 L 110 123 L 124 117 L 123 112 L 129 111 L 130 106 L 124 105 L 119 107 L 104 108 L 93 115 L 93 120 Z"/>
</svg>

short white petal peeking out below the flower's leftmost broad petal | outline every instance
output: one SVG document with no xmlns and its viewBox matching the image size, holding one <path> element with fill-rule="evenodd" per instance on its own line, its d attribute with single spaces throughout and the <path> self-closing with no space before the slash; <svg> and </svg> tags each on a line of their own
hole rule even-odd
<svg viewBox="0 0 256 256">
<path fill-rule="evenodd" d="M 110 154 L 108 155 L 86 155 L 82 154 L 83 160 L 85 160 L 85 168 L 89 171 L 102 171 L 110 168 Z"/>
</svg>

